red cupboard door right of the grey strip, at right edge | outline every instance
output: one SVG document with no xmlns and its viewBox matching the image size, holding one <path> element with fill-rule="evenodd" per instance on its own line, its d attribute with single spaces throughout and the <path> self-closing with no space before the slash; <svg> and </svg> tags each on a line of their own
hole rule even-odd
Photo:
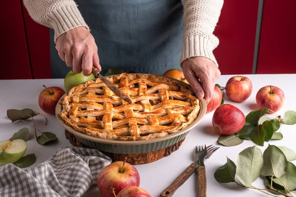
<svg viewBox="0 0 296 197">
<path fill-rule="evenodd" d="M 296 73 L 296 0 L 265 0 L 258 74 Z"/>
</svg>

